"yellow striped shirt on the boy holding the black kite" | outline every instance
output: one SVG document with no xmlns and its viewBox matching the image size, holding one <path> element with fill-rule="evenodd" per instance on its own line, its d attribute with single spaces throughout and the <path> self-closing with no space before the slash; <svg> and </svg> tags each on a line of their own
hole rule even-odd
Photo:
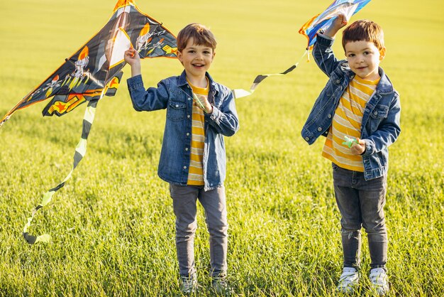
<svg viewBox="0 0 444 297">
<path fill-rule="evenodd" d="M 189 82 L 188 82 L 189 83 Z M 195 87 L 191 83 L 189 85 L 196 96 L 203 101 L 203 98 L 208 98 L 209 83 L 205 88 Z M 189 159 L 188 185 L 204 185 L 204 145 L 205 145 L 205 130 L 204 130 L 204 111 L 193 103 L 192 116 L 192 146 Z"/>
</svg>

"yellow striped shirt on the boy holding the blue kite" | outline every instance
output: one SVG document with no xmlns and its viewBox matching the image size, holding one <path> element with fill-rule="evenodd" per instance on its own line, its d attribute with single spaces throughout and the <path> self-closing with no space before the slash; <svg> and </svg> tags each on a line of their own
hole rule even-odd
<svg viewBox="0 0 444 297">
<path fill-rule="evenodd" d="M 322 156 L 341 168 L 364 172 L 362 156 L 353 155 L 350 148 L 343 142 L 345 136 L 355 139 L 360 138 L 365 105 L 376 89 L 378 82 L 379 79 L 374 81 L 362 80 L 362 78 L 355 75 L 340 97 L 333 122 L 328 131 L 326 144 L 323 146 Z"/>
</svg>

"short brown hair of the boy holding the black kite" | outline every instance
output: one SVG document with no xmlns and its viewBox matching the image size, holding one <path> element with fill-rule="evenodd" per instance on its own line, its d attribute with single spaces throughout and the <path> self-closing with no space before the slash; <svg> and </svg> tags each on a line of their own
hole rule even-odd
<svg viewBox="0 0 444 297">
<path fill-rule="evenodd" d="M 206 45 L 213 50 L 216 49 L 217 42 L 213 33 L 211 33 L 209 28 L 200 23 L 190 23 L 177 34 L 177 50 L 179 52 L 182 52 L 187 47 L 189 38 L 193 38 L 196 45 Z"/>
</svg>

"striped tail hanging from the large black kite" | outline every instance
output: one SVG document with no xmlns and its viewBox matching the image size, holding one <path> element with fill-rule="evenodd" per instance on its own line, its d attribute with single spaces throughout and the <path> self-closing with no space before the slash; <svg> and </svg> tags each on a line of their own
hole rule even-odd
<svg viewBox="0 0 444 297">
<path fill-rule="evenodd" d="M 104 92 L 102 92 L 101 97 L 103 97 Z M 26 242 L 28 244 L 35 244 L 37 242 L 50 242 L 51 236 L 50 234 L 42 234 L 40 236 L 34 236 L 28 233 L 28 229 L 30 227 L 31 222 L 33 221 L 35 213 L 40 210 L 40 208 L 47 205 L 51 199 L 52 195 L 54 195 L 57 190 L 60 190 L 63 188 L 67 180 L 71 178 L 72 172 L 74 169 L 79 165 L 80 161 L 82 161 L 82 158 L 85 156 L 85 153 L 87 153 L 87 139 L 89 136 L 89 131 L 91 131 L 92 122 L 94 121 L 94 115 L 96 114 L 96 107 L 97 107 L 97 100 L 91 100 L 88 102 L 87 110 L 85 111 L 84 117 L 83 117 L 83 126 L 82 126 L 82 137 L 79 141 L 79 144 L 77 144 L 75 148 L 74 153 L 74 163 L 72 164 L 72 169 L 70 173 L 67 175 L 67 177 L 57 185 L 55 188 L 52 188 L 51 190 L 48 190 L 45 194 L 43 194 L 42 202 L 40 202 L 37 207 L 33 210 L 33 213 L 30 217 L 28 217 L 28 222 L 26 223 L 25 227 L 23 227 L 23 237 L 25 237 Z"/>
</svg>

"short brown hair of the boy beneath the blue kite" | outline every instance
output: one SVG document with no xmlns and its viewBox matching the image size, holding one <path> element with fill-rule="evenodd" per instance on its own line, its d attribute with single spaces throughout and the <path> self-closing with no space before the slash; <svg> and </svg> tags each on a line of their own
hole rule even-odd
<svg viewBox="0 0 444 297">
<path fill-rule="evenodd" d="M 381 26 L 374 21 L 355 21 L 343 31 L 343 48 L 345 44 L 353 41 L 369 41 L 374 43 L 378 50 L 384 48 L 384 32 Z"/>
</svg>

